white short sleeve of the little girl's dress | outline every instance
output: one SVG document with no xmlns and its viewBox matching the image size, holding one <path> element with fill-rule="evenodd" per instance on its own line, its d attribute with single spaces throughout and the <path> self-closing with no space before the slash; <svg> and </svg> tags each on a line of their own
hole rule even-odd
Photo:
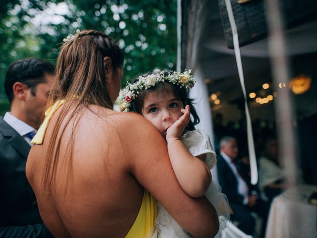
<svg viewBox="0 0 317 238">
<path fill-rule="evenodd" d="M 216 153 L 211 145 L 209 135 L 196 129 L 188 131 L 182 136 L 182 141 L 193 156 L 206 154 L 205 163 L 209 169 L 212 169 L 216 164 Z"/>
</svg>

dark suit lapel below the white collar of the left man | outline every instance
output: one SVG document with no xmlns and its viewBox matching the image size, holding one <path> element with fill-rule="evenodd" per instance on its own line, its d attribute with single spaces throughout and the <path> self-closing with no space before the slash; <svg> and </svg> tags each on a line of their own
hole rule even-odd
<svg viewBox="0 0 317 238">
<path fill-rule="evenodd" d="M 24 138 L 16 132 L 8 123 L 0 118 L 0 131 L 6 137 L 8 142 L 25 158 L 28 158 L 31 146 L 24 140 Z M 11 138 L 10 138 L 11 137 Z"/>
</svg>

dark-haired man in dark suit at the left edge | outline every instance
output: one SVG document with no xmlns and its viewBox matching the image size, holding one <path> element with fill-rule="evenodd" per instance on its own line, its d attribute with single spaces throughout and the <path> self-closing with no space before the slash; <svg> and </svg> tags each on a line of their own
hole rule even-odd
<svg viewBox="0 0 317 238">
<path fill-rule="evenodd" d="M 0 238 L 51 238 L 25 176 L 31 138 L 53 85 L 54 65 L 40 59 L 13 62 L 4 90 L 10 112 L 0 117 Z"/>
</svg>

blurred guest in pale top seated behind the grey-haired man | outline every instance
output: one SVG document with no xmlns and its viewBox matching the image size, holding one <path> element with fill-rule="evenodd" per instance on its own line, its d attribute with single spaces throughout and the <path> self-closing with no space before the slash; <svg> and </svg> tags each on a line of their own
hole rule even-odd
<svg viewBox="0 0 317 238">
<path fill-rule="evenodd" d="M 274 137 L 267 139 L 259 159 L 260 190 L 270 202 L 285 188 L 284 170 L 278 160 L 278 144 Z"/>
</svg>

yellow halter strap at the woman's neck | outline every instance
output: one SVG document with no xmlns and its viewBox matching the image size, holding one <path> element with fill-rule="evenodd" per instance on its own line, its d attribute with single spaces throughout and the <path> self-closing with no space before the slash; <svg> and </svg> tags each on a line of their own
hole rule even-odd
<svg viewBox="0 0 317 238">
<path fill-rule="evenodd" d="M 64 102 L 65 102 L 65 100 L 63 100 L 63 99 L 58 100 L 54 103 L 54 105 L 52 107 L 50 107 L 48 110 L 46 110 L 45 119 L 44 119 L 42 125 L 40 126 L 40 128 L 38 129 L 38 132 L 33 137 L 32 141 L 31 141 L 32 144 L 40 145 L 43 143 L 46 129 L 48 128 L 49 122 L 50 122 L 51 118 L 53 117 L 53 114 L 57 111 L 57 109 L 61 105 L 64 104 Z"/>
</svg>

